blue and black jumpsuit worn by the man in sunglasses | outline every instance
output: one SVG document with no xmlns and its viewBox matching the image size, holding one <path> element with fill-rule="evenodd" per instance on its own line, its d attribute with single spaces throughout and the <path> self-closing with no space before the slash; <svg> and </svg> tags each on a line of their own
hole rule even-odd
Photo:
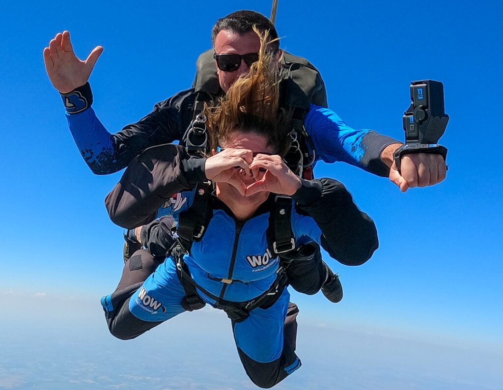
<svg viewBox="0 0 503 390">
<path fill-rule="evenodd" d="M 67 112 L 66 116 L 75 143 L 91 170 L 99 175 L 125 168 L 148 147 L 181 140 L 192 120 L 194 101 L 194 89 L 182 91 L 157 103 L 153 111 L 138 122 L 111 134 L 91 107 L 89 84 L 65 97 L 65 102 L 73 107 L 69 110 L 73 113 Z M 375 175 L 389 174 L 380 155 L 387 145 L 398 141 L 372 130 L 354 129 L 330 109 L 316 105 L 311 105 L 305 115 L 304 128 L 312 140 L 315 163 L 341 161 Z M 170 240 L 167 238 L 167 242 Z M 158 244 L 155 245 L 159 247 Z M 292 287 L 306 294 L 319 291 L 326 277 L 319 247 L 313 247 L 313 262 L 293 259 L 287 270 Z"/>
</svg>

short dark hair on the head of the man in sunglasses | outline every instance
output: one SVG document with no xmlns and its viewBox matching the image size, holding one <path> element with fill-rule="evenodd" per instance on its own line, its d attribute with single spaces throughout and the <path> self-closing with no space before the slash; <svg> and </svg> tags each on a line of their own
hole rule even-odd
<svg viewBox="0 0 503 390">
<path fill-rule="evenodd" d="M 220 18 L 213 26 L 211 33 L 211 42 L 215 46 L 215 38 L 222 30 L 230 30 L 239 34 L 245 34 L 253 31 L 253 26 L 257 26 L 260 32 L 264 33 L 269 30 L 269 38 L 272 40 L 271 46 L 276 51 L 280 46 L 278 32 L 276 28 L 264 15 L 255 11 L 235 11 L 223 18 Z"/>
</svg>

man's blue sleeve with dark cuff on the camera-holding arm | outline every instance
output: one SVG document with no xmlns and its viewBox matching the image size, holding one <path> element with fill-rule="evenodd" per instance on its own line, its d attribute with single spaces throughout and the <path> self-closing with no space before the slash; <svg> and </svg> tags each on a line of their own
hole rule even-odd
<svg viewBox="0 0 503 390">
<path fill-rule="evenodd" d="M 354 129 L 328 108 L 311 105 L 304 118 L 316 160 L 342 161 L 378 176 L 388 176 L 389 168 L 381 161 L 382 150 L 399 141 L 373 130 Z"/>
</svg>

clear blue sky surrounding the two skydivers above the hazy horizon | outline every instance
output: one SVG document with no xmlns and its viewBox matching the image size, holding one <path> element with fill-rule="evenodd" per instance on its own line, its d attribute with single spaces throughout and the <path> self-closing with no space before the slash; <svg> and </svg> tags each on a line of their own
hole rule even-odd
<svg viewBox="0 0 503 390">
<path fill-rule="evenodd" d="M 270 8 L 269 0 L 2 5 L 1 291 L 94 299 L 99 311 L 122 269 L 122 229 L 103 206 L 120 174 L 94 176 L 83 163 L 45 74 L 49 40 L 69 30 L 81 58 L 105 47 L 91 85 L 98 116 L 116 132 L 190 87 L 216 19 Z M 402 194 L 342 163 L 317 166 L 316 176 L 343 181 L 374 218 L 380 249 L 361 267 L 330 263 L 345 288 L 340 304 L 294 295 L 302 321 L 501 352 L 502 14 L 496 1 L 280 0 L 281 46 L 319 68 L 330 108 L 351 126 L 402 140 L 408 86 L 421 79 L 444 83 L 451 116 L 441 140 L 449 172 L 435 187 Z M 0 326 L 12 304 L 0 303 Z"/>
</svg>

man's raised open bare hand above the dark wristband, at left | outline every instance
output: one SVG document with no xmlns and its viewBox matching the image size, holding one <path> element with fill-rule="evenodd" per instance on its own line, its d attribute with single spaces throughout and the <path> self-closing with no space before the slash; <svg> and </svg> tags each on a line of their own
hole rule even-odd
<svg viewBox="0 0 503 390">
<path fill-rule="evenodd" d="M 45 69 L 54 88 L 66 94 L 86 84 L 101 53 L 103 47 L 96 46 L 82 61 L 73 51 L 70 33 L 57 33 L 49 42 L 49 47 L 44 48 Z"/>
</svg>

